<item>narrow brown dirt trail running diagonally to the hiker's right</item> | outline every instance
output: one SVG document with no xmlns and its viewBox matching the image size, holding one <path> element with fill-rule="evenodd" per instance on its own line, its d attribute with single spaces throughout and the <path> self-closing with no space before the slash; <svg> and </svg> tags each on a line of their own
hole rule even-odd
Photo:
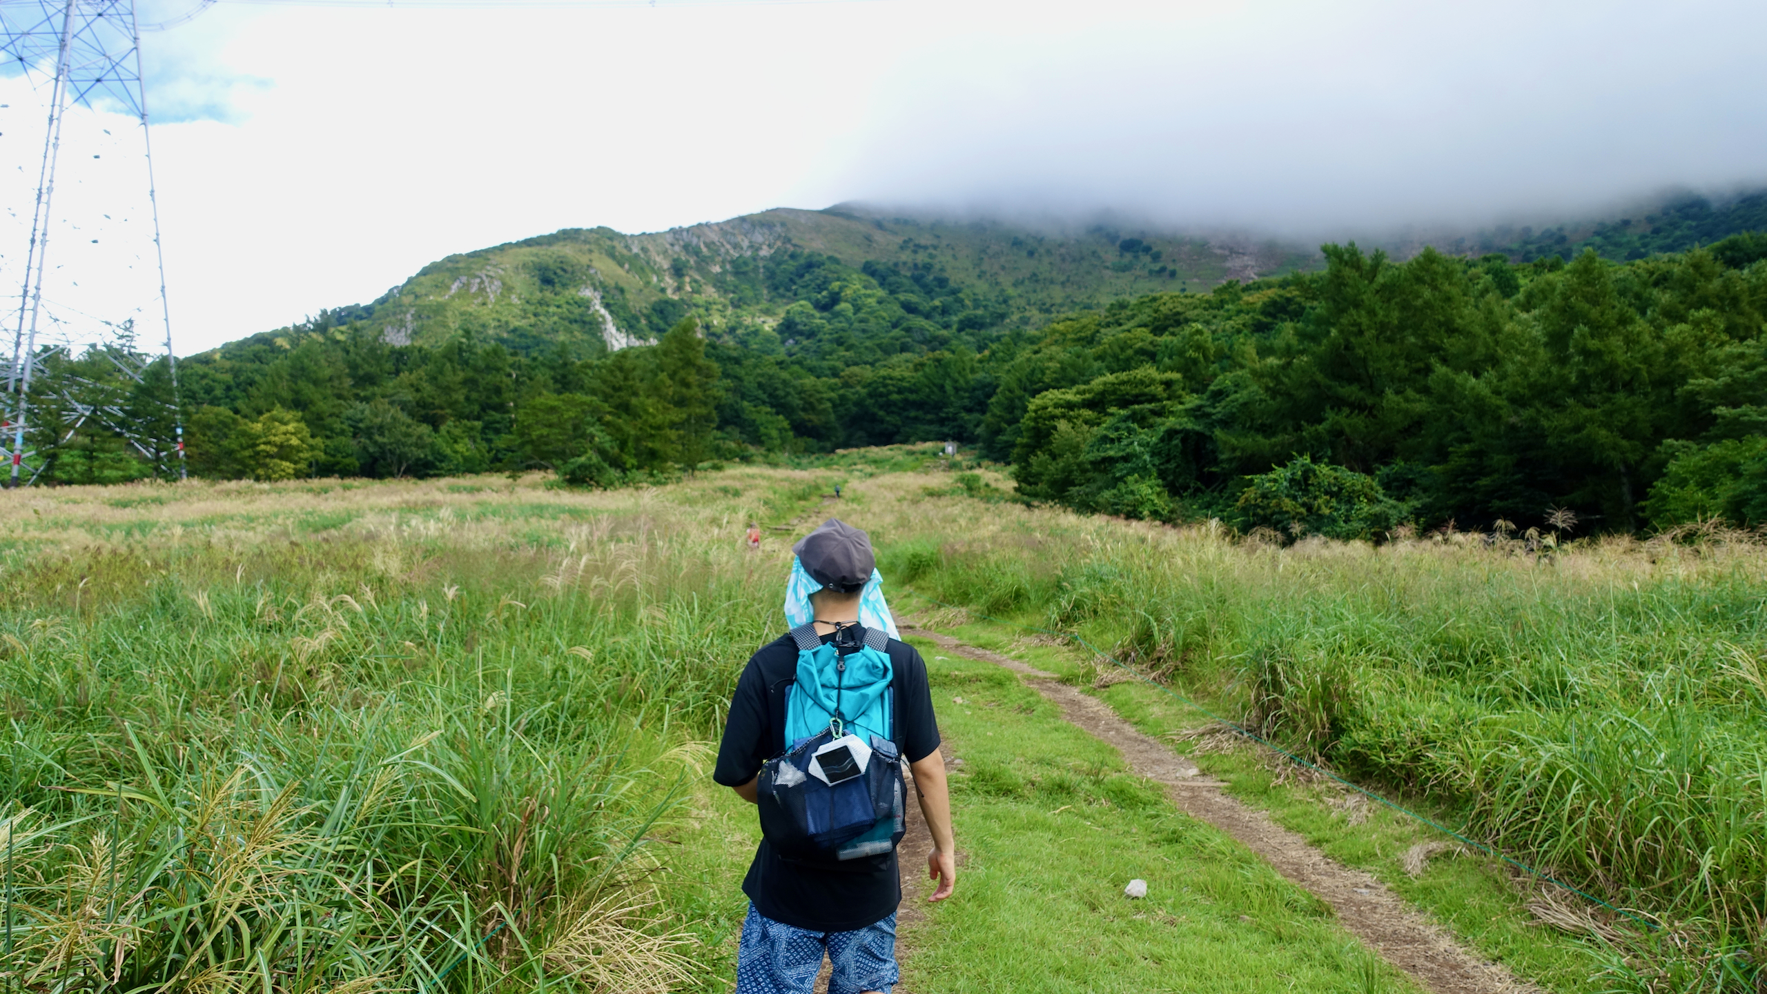
<svg viewBox="0 0 1767 994">
<path fill-rule="evenodd" d="M 1219 780 L 1200 777 L 1196 766 L 1164 743 L 1141 734 L 1104 701 L 1081 694 L 1016 659 L 967 646 L 949 636 L 919 629 L 898 616 L 898 627 L 914 629 L 940 648 L 1004 666 L 1023 674 L 1044 699 L 1062 708 L 1062 717 L 1096 738 L 1115 745 L 1138 775 L 1166 787 L 1166 796 L 1184 812 L 1214 825 L 1248 849 L 1263 856 L 1276 872 L 1332 906 L 1338 920 L 1392 966 L 1435 994 L 1544 994 L 1518 980 L 1502 964 L 1488 962 L 1461 948 L 1442 927 L 1412 909 L 1378 879 L 1327 858 L 1301 835 L 1276 825 L 1262 810 L 1242 805 L 1221 791 Z M 906 862 L 903 863 L 906 865 Z"/>
</svg>

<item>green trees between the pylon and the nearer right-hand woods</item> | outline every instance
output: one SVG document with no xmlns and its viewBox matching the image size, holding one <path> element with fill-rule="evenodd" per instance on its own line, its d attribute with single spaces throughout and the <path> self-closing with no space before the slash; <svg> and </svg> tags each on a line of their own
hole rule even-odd
<svg viewBox="0 0 1767 994">
<path fill-rule="evenodd" d="M 542 288 L 581 275 L 557 252 L 528 265 Z M 776 323 L 744 318 L 705 334 L 680 305 L 654 346 L 611 353 L 583 355 L 565 339 L 516 351 L 470 330 L 440 348 L 392 344 L 398 335 L 355 314 L 323 313 L 180 365 L 193 468 L 260 475 L 235 434 L 274 410 L 299 415 L 302 471 L 318 475 L 544 468 L 611 484 L 751 450 L 972 436 L 986 404 L 977 353 L 1004 311 L 933 267 L 869 270 L 783 252 L 765 272 L 726 279 L 779 300 Z M 541 297 L 535 307 L 562 307 Z M 69 450 L 67 471 L 80 459 Z"/>
</svg>

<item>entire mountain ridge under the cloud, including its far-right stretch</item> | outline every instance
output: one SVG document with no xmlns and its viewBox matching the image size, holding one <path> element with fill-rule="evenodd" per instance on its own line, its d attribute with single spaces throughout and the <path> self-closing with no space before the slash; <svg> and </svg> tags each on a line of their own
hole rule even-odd
<svg viewBox="0 0 1767 994">
<path fill-rule="evenodd" d="M 1398 260 L 1433 245 L 1445 254 L 1502 254 L 1509 261 L 1573 258 L 1590 247 L 1624 261 L 1767 230 L 1767 191 L 1719 203 L 1673 194 L 1624 214 L 1539 230 L 1396 235 L 1369 245 Z M 564 228 L 454 252 L 368 305 L 322 311 L 320 323 L 376 325 L 387 344 L 470 337 L 523 353 L 564 348 L 594 355 L 652 343 L 684 316 L 710 334 L 774 327 L 797 300 L 770 282 L 769 267 L 808 256 L 832 258 L 873 281 L 887 272 L 915 281 L 914 295 L 928 297 L 915 316 L 947 330 L 1037 328 L 1058 314 L 1141 293 L 1207 291 L 1323 265 L 1316 247 L 1292 240 L 1179 231 L 1133 217 L 1037 224 L 848 201 L 645 233 Z M 237 341 L 276 341 L 288 330 L 293 327 Z"/>
</svg>

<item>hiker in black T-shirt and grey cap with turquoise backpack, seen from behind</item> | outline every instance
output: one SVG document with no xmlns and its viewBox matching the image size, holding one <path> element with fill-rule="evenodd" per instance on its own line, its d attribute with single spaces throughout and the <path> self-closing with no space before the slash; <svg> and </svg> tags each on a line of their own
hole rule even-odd
<svg viewBox="0 0 1767 994">
<path fill-rule="evenodd" d="M 898 982 L 901 761 L 933 835 L 929 900 L 951 897 L 956 844 L 933 694 L 898 639 L 869 537 L 839 519 L 792 546 L 790 634 L 749 659 L 712 779 L 760 807 L 742 881 L 737 994 L 889 994 Z"/>
</svg>

